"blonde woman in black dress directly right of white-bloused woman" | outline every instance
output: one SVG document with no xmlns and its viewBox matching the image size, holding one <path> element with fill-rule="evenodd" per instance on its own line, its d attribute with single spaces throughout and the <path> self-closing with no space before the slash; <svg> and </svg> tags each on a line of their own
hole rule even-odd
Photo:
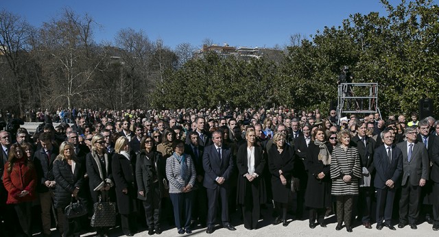
<svg viewBox="0 0 439 237">
<path fill-rule="evenodd" d="M 286 135 L 278 133 L 273 137 L 273 144 L 268 151 L 268 168 L 272 174 L 273 201 L 279 216 L 273 222 L 277 225 L 283 222 L 287 226 L 287 204 L 291 195 L 289 184 L 294 169 L 294 149 L 286 143 Z"/>
</svg>

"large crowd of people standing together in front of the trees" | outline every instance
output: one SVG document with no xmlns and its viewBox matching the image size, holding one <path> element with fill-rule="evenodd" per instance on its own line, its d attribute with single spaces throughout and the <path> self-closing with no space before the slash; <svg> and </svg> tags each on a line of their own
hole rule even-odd
<svg viewBox="0 0 439 237">
<path fill-rule="evenodd" d="M 117 203 L 126 236 L 139 225 L 161 234 L 165 223 L 178 234 L 212 234 L 217 224 L 234 231 L 233 212 L 246 229 L 258 229 L 261 208 L 270 205 L 273 225 L 307 218 L 311 229 L 327 227 L 325 216 L 335 214 L 337 231 L 353 232 L 355 221 L 367 229 L 416 229 L 423 221 L 439 229 L 439 121 L 432 117 L 412 113 L 407 123 L 404 115 L 337 118 L 335 110 L 283 107 L 74 110 L 69 120 L 65 110 L 38 116 L 44 123 L 34 134 L 0 132 L 6 236 L 32 236 L 35 226 L 50 236 L 53 218 L 62 236 L 108 236 L 108 227 L 90 226 L 93 204 L 102 201 Z M 88 214 L 69 218 L 66 207 L 76 201 Z"/>
</svg>

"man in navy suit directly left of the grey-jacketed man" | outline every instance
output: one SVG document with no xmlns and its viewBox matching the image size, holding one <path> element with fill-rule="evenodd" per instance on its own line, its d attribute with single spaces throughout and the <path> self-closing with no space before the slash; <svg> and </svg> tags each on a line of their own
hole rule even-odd
<svg viewBox="0 0 439 237">
<path fill-rule="evenodd" d="M 389 130 L 380 134 L 384 144 L 375 150 L 373 163 L 376 175 L 374 186 L 377 189 L 377 229 L 385 227 L 395 230 L 392 225 L 393 202 L 399 178 L 403 172 L 403 153 L 393 145 L 394 136 Z"/>
</svg>

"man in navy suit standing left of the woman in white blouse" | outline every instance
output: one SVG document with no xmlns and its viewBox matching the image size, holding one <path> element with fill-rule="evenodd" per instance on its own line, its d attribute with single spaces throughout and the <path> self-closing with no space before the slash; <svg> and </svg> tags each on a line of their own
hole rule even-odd
<svg viewBox="0 0 439 237">
<path fill-rule="evenodd" d="M 221 201 L 222 225 L 226 229 L 235 230 L 235 227 L 229 223 L 228 215 L 229 178 L 232 175 L 234 164 L 230 147 L 222 144 L 222 138 L 222 132 L 218 130 L 213 132 L 213 145 L 205 147 L 203 153 L 205 172 L 203 186 L 206 188 L 208 200 L 207 234 L 212 234 L 214 231 L 213 227 L 219 208 L 218 201 Z"/>
</svg>

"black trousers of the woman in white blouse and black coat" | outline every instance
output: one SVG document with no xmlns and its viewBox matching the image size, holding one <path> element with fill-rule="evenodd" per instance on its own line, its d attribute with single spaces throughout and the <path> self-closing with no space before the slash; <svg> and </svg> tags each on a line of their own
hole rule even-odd
<svg viewBox="0 0 439 237">
<path fill-rule="evenodd" d="M 259 184 L 259 182 L 256 184 Z M 259 188 L 254 182 L 246 181 L 244 202 L 245 203 L 242 204 L 244 227 L 247 229 L 257 229 L 259 214 L 261 213 L 261 203 L 259 202 Z"/>
</svg>

